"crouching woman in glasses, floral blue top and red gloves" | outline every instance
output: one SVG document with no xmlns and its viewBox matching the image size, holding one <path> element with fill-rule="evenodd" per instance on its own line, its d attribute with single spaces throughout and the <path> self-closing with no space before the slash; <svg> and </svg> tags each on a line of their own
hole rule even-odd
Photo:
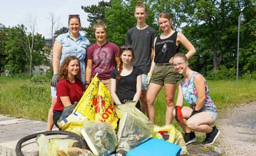
<svg viewBox="0 0 256 156">
<path fill-rule="evenodd" d="M 197 141 L 196 132 L 207 133 L 202 144 L 213 144 L 219 137 L 216 126 L 211 127 L 216 121 L 218 110 L 209 96 L 209 88 L 205 78 L 188 67 L 185 54 L 177 53 L 173 58 L 174 69 L 183 74 L 184 79 L 178 85 L 178 98 L 174 110 L 175 119 L 185 132 L 186 144 Z M 183 106 L 183 98 L 190 107 Z"/>
</svg>

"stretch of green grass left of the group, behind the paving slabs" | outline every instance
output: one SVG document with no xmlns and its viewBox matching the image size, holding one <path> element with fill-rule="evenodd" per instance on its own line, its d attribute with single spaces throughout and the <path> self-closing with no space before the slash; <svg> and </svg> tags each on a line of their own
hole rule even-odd
<svg viewBox="0 0 256 156">
<path fill-rule="evenodd" d="M 46 121 L 51 106 L 49 83 L 27 78 L 0 77 L 0 113 Z"/>
</svg>

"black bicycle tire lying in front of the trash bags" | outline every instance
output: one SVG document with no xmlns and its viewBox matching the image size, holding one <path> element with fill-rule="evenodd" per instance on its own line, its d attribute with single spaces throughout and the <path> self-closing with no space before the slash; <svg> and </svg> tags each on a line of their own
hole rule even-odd
<svg viewBox="0 0 256 156">
<path fill-rule="evenodd" d="M 24 156 L 24 154 L 22 153 L 21 151 L 21 145 L 28 141 L 28 140 L 31 140 L 32 138 L 36 138 L 37 135 L 40 135 L 40 134 L 43 134 L 43 135 L 68 135 L 69 137 L 73 137 L 75 138 L 76 140 L 79 141 L 79 143 L 81 144 L 81 147 L 82 149 L 87 149 L 87 143 L 85 140 L 83 140 L 79 135 L 77 135 L 76 133 L 73 133 L 73 132 L 68 132 L 68 131 L 60 131 L 60 130 L 52 130 L 52 131 L 45 131 L 45 132 L 39 132 L 39 133 L 34 133 L 34 134 L 31 134 L 31 135 L 27 135 L 26 137 L 23 137 L 21 138 L 18 143 L 16 144 L 16 147 L 15 147 L 15 152 L 16 152 L 16 155 L 18 156 Z"/>
</svg>

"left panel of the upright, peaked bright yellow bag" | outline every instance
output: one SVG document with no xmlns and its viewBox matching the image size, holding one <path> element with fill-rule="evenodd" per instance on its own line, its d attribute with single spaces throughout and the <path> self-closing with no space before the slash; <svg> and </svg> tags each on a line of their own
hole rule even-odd
<svg viewBox="0 0 256 156">
<path fill-rule="evenodd" d="M 86 116 L 86 118 L 88 118 L 89 120 L 95 119 L 95 108 L 97 105 L 99 84 L 100 80 L 97 76 L 95 76 L 75 108 L 77 112 Z"/>
</svg>

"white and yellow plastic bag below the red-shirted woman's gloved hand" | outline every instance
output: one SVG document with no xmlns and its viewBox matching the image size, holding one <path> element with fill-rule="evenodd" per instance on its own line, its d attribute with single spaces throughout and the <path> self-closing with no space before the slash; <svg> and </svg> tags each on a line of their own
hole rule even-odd
<svg viewBox="0 0 256 156">
<path fill-rule="evenodd" d="M 86 116 L 79 112 L 75 112 L 69 115 L 67 118 L 58 121 L 57 124 L 62 130 L 80 135 L 80 130 L 86 121 L 88 121 Z"/>
</svg>

